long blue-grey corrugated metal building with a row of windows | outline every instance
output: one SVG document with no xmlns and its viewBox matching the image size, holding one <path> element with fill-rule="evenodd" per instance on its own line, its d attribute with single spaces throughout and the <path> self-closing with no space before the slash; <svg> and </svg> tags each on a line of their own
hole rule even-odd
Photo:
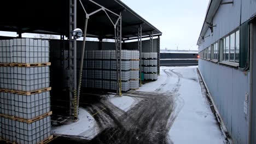
<svg viewBox="0 0 256 144">
<path fill-rule="evenodd" d="M 256 1 L 210 1 L 199 70 L 234 143 L 256 143 Z"/>
</svg>

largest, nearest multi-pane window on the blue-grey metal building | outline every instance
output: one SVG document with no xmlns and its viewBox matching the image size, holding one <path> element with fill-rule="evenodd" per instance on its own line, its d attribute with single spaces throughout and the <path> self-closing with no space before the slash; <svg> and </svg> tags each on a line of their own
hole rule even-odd
<svg viewBox="0 0 256 144">
<path fill-rule="evenodd" d="M 222 61 L 239 63 L 239 37 L 239 31 L 236 31 L 223 39 Z"/>
</svg>

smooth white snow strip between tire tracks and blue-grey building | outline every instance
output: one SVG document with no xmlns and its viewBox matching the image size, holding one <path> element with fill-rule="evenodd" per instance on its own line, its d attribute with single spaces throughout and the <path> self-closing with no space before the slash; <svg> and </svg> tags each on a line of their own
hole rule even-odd
<svg viewBox="0 0 256 144">
<path fill-rule="evenodd" d="M 169 131 L 171 140 L 174 143 L 223 143 L 225 140 L 215 116 L 202 96 L 196 68 L 174 71 L 183 75 L 178 93 L 184 105 Z"/>
</svg>

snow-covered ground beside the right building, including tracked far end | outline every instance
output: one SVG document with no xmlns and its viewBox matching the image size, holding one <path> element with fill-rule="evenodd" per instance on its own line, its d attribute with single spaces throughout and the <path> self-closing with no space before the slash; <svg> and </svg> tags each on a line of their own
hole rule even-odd
<svg viewBox="0 0 256 144">
<path fill-rule="evenodd" d="M 173 143 L 224 143 L 225 138 L 201 93 L 196 68 L 161 67 L 158 81 L 147 83 L 138 91 L 165 94 L 177 91 L 175 119 L 168 133 Z"/>
</svg>

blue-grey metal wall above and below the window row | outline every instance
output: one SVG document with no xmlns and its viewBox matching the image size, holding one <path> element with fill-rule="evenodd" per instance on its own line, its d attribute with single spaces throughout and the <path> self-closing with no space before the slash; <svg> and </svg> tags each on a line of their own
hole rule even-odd
<svg viewBox="0 0 256 144">
<path fill-rule="evenodd" d="M 234 0 L 234 4 L 220 5 L 213 17 L 216 27 L 213 27 L 213 33 L 208 28 L 199 51 L 235 31 L 255 13 L 255 0 Z M 204 59 L 199 59 L 199 69 L 232 139 L 235 143 L 248 143 L 250 113 L 249 108 L 244 109 L 248 106 L 244 103 L 246 93 L 250 92 L 250 73 L 246 75 L 237 68 Z"/>
</svg>

